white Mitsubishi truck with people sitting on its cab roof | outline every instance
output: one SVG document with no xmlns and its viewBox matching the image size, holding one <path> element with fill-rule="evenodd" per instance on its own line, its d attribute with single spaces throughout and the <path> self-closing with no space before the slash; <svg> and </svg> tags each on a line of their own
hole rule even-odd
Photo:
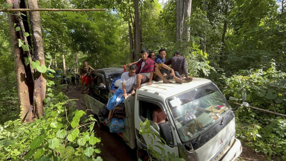
<svg viewBox="0 0 286 161">
<path fill-rule="evenodd" d="M 96 117 L 104 105 L 87 94 L 83 95 L 83 102 Z M 166 141 L 164 146 L 158 144 L 166 155 L 175 153 L 193 161 L 230 161 L 242 152 L 241 143 L 235 138 L 231 106 L 210 80 L 194 78 L 182 84 L 153 81 L 152 85 L 141 87 L 135 96 L 128 96 L 124 103 L 126 117 L 122 136 L 132 149 L 146 149 L 151 144 L 148 137 L 139 134 L 140 123 L 148 118 L 150 129 Z M 158 108 L 167 117 L 166 122 L 159 125 L 152 121 L 153 111 Z M 157 147 L 154 149 L 161 152 Z"/>
</svg>

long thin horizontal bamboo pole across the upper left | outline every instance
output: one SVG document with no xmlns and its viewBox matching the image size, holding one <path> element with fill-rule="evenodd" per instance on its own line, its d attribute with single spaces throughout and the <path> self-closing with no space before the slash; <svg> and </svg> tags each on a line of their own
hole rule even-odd
<svg viewBox="0 0 286 161">
<path fill-rule="evenodd" d="M 35 11 L 104 11 L 105 9 L 95 9 L 95 8 L 91 8 L 91 9 L 66 9 L 66 8 L 17 8 L 17 9 L 7 9 L 7 10 L 0 10 L 0 12 L 35 12 Z"/>
</svg>

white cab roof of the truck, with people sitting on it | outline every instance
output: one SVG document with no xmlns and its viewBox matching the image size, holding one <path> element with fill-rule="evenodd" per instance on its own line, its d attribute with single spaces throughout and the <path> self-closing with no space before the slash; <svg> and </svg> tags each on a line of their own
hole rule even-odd
<svg viewBox="0 0 286 161">
<path fill-rule="evenodd" d="M 151 86 L 143 86 L 139 88 L 138 93 L 149 96 L 149 97 L 171 97 L 173 95 L 177 95 L 181 92 L 184 92 L 188 89 L 195 88 L 197 86 L 203 85 L 205 83 L 210 83 L 212 82 L 211 80 L 208 79 L 203 79 L 203 78 L 193 78 L 193 80 L 189 83 L 175 83 L 174 80 L 169 80 L 173 83 L 163 83 L 163 81 L 152 81 Z M 147 83 L 146 83 L 147 84 Z"/>
</svg>

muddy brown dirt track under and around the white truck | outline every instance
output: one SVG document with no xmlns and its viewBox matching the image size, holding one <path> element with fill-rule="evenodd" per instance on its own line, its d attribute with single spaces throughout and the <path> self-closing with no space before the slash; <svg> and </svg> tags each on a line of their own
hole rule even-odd
<svg viewBox="0 0 286 161">
<path fill-rule="evenodd" d="M 70 89 L 66 91 L 66 95 L 69 99 L 78 99 L 75 101 L 77 104 L 77 109 L 86 110 L 83 105 L 83 97 L 81 94 L 81 89 L 75 86 L 70 86 Z M 129 161 L 134 158 L 134 151 L 125 144 L 124 140 L 115 133 L 110 133 L 107 130 L 96 129 L 97 137 L 101 137 L 101 145 L 99 147 L 101 150 L 100 156 L 103 160 L 107 161 Z M 243 152 L 238 160 L 245 161 L 263 161 L 267 160 L 263 153 L 256 153 L 250 148 L 243 145 Z"/>
</svg>

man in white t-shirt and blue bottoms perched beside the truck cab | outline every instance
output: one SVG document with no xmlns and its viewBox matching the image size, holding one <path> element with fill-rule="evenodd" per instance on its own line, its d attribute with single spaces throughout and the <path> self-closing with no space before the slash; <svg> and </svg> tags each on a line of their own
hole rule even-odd
<svg viewBox="0 0 286 161">
<path fill-rule="evenodd" d="M 137 84 L 137 75 L 135 74 L 137 69 L 136 65 L 129 67 L 129 72 L 124 72 L 121 75 L 119 88 L 114 92 L 114 95 L 109 98 L 107 108 L 110 110 L 108 115 L 108 122 L 111 119 L 112 110 L 119 103 L 124 102 L 124 98 L 127 94 L 135 95 L 135 88 Z"/>
</svg>

